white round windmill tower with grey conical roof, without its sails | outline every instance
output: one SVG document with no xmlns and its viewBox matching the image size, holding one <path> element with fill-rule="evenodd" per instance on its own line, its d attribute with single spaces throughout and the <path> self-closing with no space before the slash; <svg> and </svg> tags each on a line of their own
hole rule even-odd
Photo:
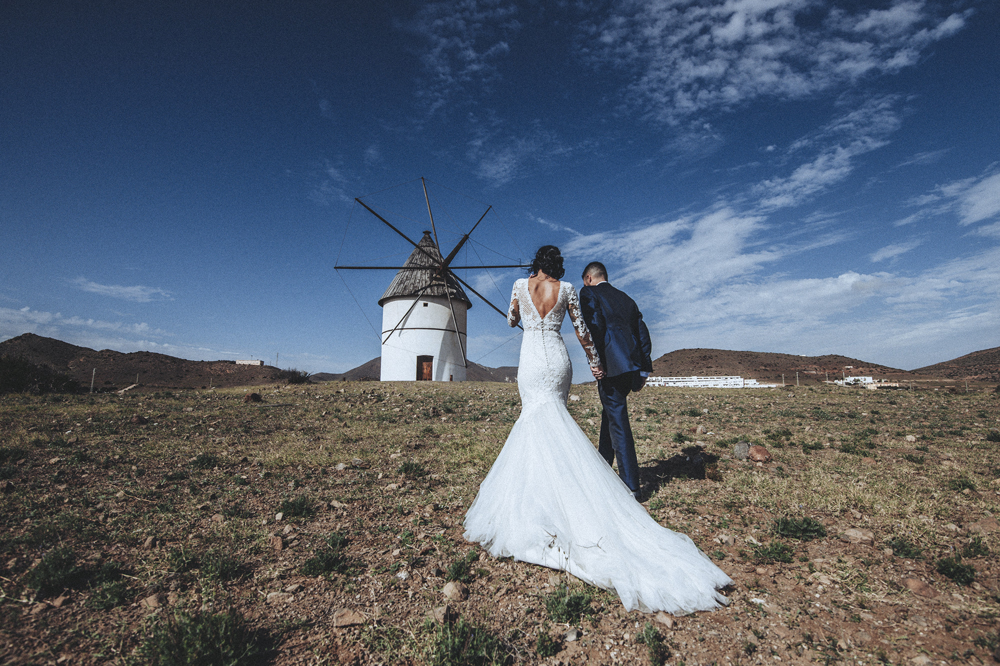
<svg viewBox="0 0 1000 666">
<path fill-rule="evenodd" d="M 436 274 L 435 266 L 443 262 L 425 231 L 379 299 L 382 381 L 465 381 L 466 315 L 472 301 L 454 278 Z"/>
</svg>

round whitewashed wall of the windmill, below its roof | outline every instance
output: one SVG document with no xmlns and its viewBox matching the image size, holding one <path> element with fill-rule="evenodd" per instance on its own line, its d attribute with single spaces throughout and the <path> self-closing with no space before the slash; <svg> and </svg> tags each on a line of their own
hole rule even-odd
<svg viewBox="0 0 1000 666">
<path fill-rule="evenodd" d="M 467 345 L 468 305 L 453 297 L 453 320 L 446 297 L 421 296 L 410 310 L 413 300 L 412 296 L 400 296 L 382 304 L 382 381 L 416 380 L 418 356 L 433 357 L 434 381 L 465 381 L 462 348 L 455 335 L 454 323 L 458 323 L 462 345 Z M 401 319 L 403 322 L 399 324 Z M 389 331 L 394 328 L 396 330 L 390 335 Z"/>
</svg>

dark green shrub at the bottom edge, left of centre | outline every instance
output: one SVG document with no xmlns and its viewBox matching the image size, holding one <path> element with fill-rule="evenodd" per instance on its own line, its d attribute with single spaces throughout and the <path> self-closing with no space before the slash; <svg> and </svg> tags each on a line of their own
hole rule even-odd
<svg viewBox="0 0 1000 666">
<path fill-rule="evenodd" d="M 155 625 L 139 646 L 139 654 L 151 666 L 238 666 L 261 652 L 259 638 L 233 610 L 178 611 Z"/>
</svg>

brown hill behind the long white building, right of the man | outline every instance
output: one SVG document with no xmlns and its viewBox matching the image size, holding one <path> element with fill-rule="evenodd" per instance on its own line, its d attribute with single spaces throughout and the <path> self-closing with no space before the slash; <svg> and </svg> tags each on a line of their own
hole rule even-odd
<svg viewBox="0 0 1000 666">
<path fill-rule="evenodd" d="M 678 349 L 653 361 L 653 374 L 661 377 L 740 375 L 744 379 L 780 384 L 784 374 L 785 383 L 794 384 L 796 372 L 799 373 L 800 383 L 821 382 L 827 376 L 831 380 L 840 379 L 844 374 L 880 378 L 902 378 L 910 374 L 899 368 L 840 354 L 797 356 L 727 349 Z"/>
</svg>

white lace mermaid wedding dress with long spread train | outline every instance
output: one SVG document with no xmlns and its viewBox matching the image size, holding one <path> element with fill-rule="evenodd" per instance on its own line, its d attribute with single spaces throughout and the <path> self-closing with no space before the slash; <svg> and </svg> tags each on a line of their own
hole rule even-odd
<svg viewBox="0 0 1000 666">
<path fill-rule="evenodd" d="M 728 603 L 717 590 L 729 576 L 646 513 L 567 411 L 572 367 L 559 333 L 567 310 L 597 365 L 573 285 L 560 282 L 556 306 L 541 317 L 528 281 L 514 283 L 508 321 L 520 316 L 524 326 L 521 416 L 466 513 L 465 538 L 494 557 L 614 590 L 626 610 L 683 614 Z"/>
</svg>

